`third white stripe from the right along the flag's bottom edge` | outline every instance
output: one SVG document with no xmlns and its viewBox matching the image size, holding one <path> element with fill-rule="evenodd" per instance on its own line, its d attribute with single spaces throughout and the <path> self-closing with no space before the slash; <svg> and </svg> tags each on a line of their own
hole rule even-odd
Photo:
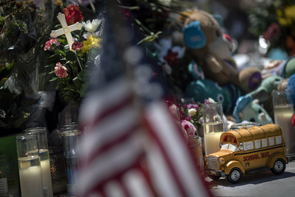
<svg viewBox="0 0 295 197">
<path fill-rule="evenodd" d="M 153 197 L 148 182 L 141 171 L 129 170 L 123 176 L 123 181 L 132 197 Z"/>
</svg>

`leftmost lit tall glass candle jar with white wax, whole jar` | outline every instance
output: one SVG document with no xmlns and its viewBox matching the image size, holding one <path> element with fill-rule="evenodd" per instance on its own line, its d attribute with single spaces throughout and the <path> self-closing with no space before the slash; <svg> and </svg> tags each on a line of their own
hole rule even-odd
<svg viewBox="0 0 295 197">
<path fill-rule="evenodd" d="M 43 183 L 37 136 L 16 135 L 16 148 L 22 197 L 42 197 Z"/>
</svg>

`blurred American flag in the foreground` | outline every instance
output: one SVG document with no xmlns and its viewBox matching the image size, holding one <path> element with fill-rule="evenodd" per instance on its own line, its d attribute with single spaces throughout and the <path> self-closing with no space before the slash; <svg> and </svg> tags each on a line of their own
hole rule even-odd
<svg viewBox="0 0 295 197">
<path fill-rule="evenodd" d="M 151 67 L 134 38 L 122 39 L 130 29 L 109 13 L 98 77 L 80 113 L 91 128 L 80 196 L 211 196 Z"/>
</svg>

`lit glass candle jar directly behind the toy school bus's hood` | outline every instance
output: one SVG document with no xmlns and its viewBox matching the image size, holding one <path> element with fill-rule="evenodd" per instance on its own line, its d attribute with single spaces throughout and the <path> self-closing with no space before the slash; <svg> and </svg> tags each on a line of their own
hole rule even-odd
<svg viewBox="0 0 295 197">
<path fill-rule="evenodd" d="M 220 135 L 224 132 L 222 103 L 202 104 L 205 154 L 220 150 Z"/>
</svg>

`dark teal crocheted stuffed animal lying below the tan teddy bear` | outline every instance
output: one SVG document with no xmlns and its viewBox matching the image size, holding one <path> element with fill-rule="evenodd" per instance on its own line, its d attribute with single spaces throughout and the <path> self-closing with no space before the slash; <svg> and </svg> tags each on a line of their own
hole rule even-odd
<svg viewBox="0 0 295 197">
<path fill-rule="evenodd" d="M 191 62 L 188 71 L 193 75 L 195 81 L 191 82 L 186 89 L 186 96 L 195 98 L 196 102 L 203 102 L 207 98 L 213 98 L 222 103 L 223 112 L 232 114 L 236 99 L 241 96 L 241 90 L 232 84 L 219 86 L 217 82 L 203 77 L 200 67 Z"/>
</svg>

